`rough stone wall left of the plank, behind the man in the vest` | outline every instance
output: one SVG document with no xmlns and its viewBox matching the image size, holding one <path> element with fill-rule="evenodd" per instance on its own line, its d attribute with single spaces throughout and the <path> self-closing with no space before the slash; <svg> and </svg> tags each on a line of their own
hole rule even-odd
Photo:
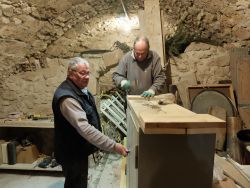
<svg viewBox="0 0 250 188">
<path fill-rule="evenodd" d="M 139 6 L 129 4 L 132 10 Z M 0 116 L 15 111 L 51 114 L 52 95 L 66 77 L 69 58 L 114 50 L 118 40 L 132 44 L 138 28 L 128 34 L 113 24 L 122 13 L 114 0 L 2 0 Z M 100 71 L 102 58 L 95 60 L 90 58 L 91 69 Z M 94 93 L 98 74 L 90 81 Z"/>
</svg>

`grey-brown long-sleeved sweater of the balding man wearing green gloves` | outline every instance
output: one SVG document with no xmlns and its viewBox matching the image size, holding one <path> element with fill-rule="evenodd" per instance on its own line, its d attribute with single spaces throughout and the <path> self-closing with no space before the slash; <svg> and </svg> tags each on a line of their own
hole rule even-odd
<svg viewBox="0 0 250 188">
<path fill-rule="evenodd" d="M 131 82 L 128 94 L 140 95 L 148 89 L 152 89 L 156 94 L 159 94 L 166 83 L 166 76 L 159 55 L 150 50 L 143 62 L 137 62 L 133 51 L 126 53 L 113 73 L 113 81 L 116 86 L 121 86 L 122 80 Z"/>
</svg>

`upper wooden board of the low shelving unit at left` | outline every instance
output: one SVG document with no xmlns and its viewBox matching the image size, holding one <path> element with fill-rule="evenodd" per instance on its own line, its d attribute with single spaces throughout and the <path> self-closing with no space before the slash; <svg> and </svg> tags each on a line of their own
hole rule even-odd
<svg viewBox="0 0 250 188">
<path fill-rule="evenodd" d="M 54 122 L 50 120 L 0 120 L 0 127 L 54 128 Z"/>
</svg>

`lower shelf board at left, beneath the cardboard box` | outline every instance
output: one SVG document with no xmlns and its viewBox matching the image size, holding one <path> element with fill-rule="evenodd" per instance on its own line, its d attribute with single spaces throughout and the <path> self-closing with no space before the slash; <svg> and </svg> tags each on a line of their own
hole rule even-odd
<svg viewBox="0 0 250 188">
<path fill-rule="evenodd" d="M 33 162 L 32 164 L 26 164 L 26 163 L 16 163 L 14 165 L 9 165 L 9 164 L 1 164 L 0 165 L 0 170 L 5 169 L 5 170 L 35 170 L 35 171 L 56 171 L 56 172 L 61 172 L 62 168 L 60 165 L 51 168 L 40 168 L 37 166 L 38 161 Z"/>
</svg>

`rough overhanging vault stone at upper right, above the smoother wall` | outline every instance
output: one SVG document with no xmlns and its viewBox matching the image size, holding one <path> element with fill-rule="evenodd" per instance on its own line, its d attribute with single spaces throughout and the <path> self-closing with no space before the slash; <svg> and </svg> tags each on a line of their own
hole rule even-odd
<svg viewBox="0 0 250 188">
<path fill-rule="evenodd" d="M 248 0 L 168 0 L 161 1 L 161 6 L 166 37 L 173 34 L 169 28 L 183 26 L 196 40 L 250 47 Z"/>
</svg>

